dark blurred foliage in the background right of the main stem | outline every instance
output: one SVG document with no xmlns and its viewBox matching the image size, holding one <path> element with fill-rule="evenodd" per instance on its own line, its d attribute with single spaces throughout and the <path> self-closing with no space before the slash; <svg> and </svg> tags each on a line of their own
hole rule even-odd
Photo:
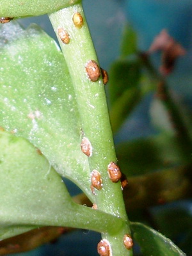
<svg viewBox="0 0 192 256">
<path fill-rule="evenodd" d="M 128 181 L 130 177 L 134 177 L 133 180 L 130 179 L 130 184 L 125 189 L 125 202 L 128 211 L 129 205 L 132 205 L 131 209 L 138 209 L 137 214 L 130 215 L 131 219 L 134 216 L 134 221 L 144 220 L 149 225 L 153 225 L 155 221 L 155 228 L 159 228 L 163 234 L 176 241 L 184 252 L 189 252 L 191 214 L 188 212 L 186 219 L 184 212 L 179 211 L 177 214 L 176 210 L 170 211 L 170 208 L 164 210 L 161 207 L 161 214 L 155 212 L 150 215 L 148 206 L 152 202 L 166 204 L 174 198 L 175 200 L 182 198 L 182 195 L 191 195 L 190 186 L 188 186 L 191 179 L 189 175 L 191 170 L 189 145 L 191 145 L 192 131 L 189 113 L 191 111 L 183 100 L 181 103 L 179 97 L 169 91 L 164 77 L 150 63 L 148 52 L 139 52 L 136 44 L 136 35 L 132 29 L 128 28 L 127 33 L 124 33 L 120 58 L 115 61 L 110 70 L 111 124 L 115 132 L 118 132 L 121 125 L 125 123 L 129 125 L 129 118 L 134 116 L 138 104 L 142 104 L 143 99 L 150 94 L 153 97 L 149 104 L 148 117 L 150 125 L 156 129 L 156 134 L 134 140 L 130 137 L 129 141 L 116 143 L 116 153 L 122 172 L 127 175 Z M 125 92 L 128 95 L 125 97 L 127 101 L 123 97 Z M 125 127 L 123 131 L 126 132 Z M 123 136 L 121 134 L 122 138 Z M 182 171 L 185 170 L 185 166 L 188 166 L 187 172 Z M 126 197 L 126 195 L 130 196 Z M 143 205 L 141 208 L 146 209 L 146 216 L 142 215 L 143 210 L 140 211 L 140 207 L 136 205 Z M 149 212 L 148 218 L 145 218 L 147 212 Z M 169 219 L 172 221 L 170 222 Z M 177 225 L 178 221 L 180 225 Z M 141 224 L 134 225 L 135 231 L 143 235 L 138 235 L 139 240 L 141 239 L 138 243 L 143 255 L 184 255 L 179 249 L 175 250 L 175 245 L 161 234 Z M 184 228 L 186 228 L 185 233 Z M 177 230 L 176 240 L 173 235 L 174 230 Z M 186 238 L 178 239 L 179 234 L 180 236 L 184 234 Z M 135 233 L 135 238 L 136 236 Z M 163 248 L 161 246 L 165 245 L 164 242 L 167 247 Z M 153 246 L 157 248 L 154 249 Z"/>
</svg>

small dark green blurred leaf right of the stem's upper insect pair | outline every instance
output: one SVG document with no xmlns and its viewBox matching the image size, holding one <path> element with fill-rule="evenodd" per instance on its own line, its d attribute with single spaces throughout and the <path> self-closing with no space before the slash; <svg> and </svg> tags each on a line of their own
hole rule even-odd
<svg viewBox="0 0 192 256">
<path fill-rule="evenodd" d="M 137 59 L 117 60 L 109 72 L 109 99 L 111 106 L 125 90 L 136 88 L 141 77 L 140 61 Z"/>
</svg>

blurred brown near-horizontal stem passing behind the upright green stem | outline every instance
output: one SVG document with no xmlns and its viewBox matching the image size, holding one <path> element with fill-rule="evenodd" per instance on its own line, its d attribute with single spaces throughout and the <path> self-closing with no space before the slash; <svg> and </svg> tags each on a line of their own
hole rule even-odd
<svg viewBox="0 0 192 256">
<path fill-rule="evenodd" d="M 191 164 L 130 177 L 129 186 L 124 189 L 125 207 L 127 212 L 131 212 L 175 200 L 191 198 L 191 186 Z M 73 199 L 78 204 L 91 205 L 84 194 L 77 195 Z"/>
</svg>

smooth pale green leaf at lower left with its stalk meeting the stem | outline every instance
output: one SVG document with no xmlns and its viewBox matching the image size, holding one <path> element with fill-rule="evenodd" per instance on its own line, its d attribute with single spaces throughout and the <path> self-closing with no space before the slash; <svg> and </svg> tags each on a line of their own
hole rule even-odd
<svg viewBox="0 0 192 256">
<path fill-rule="evenodd" d="M 0 170 L 0 239 L 43 225 L 98 232 L 116 232 L 123 225 L 115 216 L 75 204 L 44 156 L 28 141 L 2 131 Z"/>
</svg>

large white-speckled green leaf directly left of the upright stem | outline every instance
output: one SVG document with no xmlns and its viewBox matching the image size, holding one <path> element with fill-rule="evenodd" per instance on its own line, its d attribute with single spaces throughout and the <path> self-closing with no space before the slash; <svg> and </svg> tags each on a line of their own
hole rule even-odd
<svg viewBox="0 0 192 256">
<path fill-rule="evenodd" d="M 0 125 L 28 139 L 54 169 L 93 198 L 81 122 L 58 45 L 38 26 L 0 26 Z"/>
</svg>

